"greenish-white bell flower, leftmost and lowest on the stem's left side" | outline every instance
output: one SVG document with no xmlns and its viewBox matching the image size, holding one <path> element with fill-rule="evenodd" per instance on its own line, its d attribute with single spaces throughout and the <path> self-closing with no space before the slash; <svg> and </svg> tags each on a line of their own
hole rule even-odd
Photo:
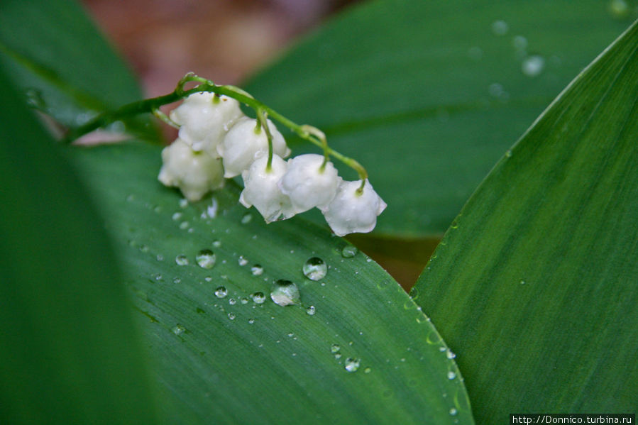
<svg viewBox="0 0 638 425">
<path fill-rule="evenodd" d="M 162 150 L 162 161 L 158 180 L 165 186 L 179 187 L 189 201 L 199 201 L 209 190 L 224 186 L 221 159 L 195 152 L 181 138 Z"/>
</svg>

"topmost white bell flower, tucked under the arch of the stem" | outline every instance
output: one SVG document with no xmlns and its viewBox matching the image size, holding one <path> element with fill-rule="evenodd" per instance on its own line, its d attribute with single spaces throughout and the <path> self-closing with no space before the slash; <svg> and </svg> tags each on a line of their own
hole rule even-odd
<svg viewBox="0 0 638 425">
<path fill-rule="evenodd" d="M 170 119 L 180 125 L 180 138 L 211 156 L 217 155 L 217 145 L 242 116 L 238 101 L 209 92 L 191 94 L 170 112 Z"/>
</svg>

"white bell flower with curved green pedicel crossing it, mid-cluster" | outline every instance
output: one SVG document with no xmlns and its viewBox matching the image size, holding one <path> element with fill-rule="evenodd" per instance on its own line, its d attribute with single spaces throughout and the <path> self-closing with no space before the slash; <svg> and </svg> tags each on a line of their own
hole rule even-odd
<svg viewBox="0 0 638 425">
<path fill-rule="evenodd" d="M 282 158 L 287 157 L 290 155 L 290 149 L 284 136 L 275 124 L 267 121 L 270 134 L 273 136 L 273 153 Z M 263 128 L 258 127 L 257 120 L 241 118 L 217 145 L 217 153 L 224 158 L 224 177 L 229 179 L 248 170 L 257 158 L 268 155 L 268 137 Z"/>
</svg>

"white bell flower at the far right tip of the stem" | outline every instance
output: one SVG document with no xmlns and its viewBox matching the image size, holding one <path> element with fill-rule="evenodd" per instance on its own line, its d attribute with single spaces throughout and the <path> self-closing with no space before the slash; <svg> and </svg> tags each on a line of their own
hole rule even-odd
<svg viewBox="0 0 638 425">
<path fill-rule="evenodd" d="M 337 236 L 372 231 L 377 224 L 377 216 L 387 206 L 368 179 L 365 180 L 361 194 L 357 190 L 359 187 L 361 180 L 342 181 L 336 196 L 323 211 L 326 221 Z"/>
</svg>

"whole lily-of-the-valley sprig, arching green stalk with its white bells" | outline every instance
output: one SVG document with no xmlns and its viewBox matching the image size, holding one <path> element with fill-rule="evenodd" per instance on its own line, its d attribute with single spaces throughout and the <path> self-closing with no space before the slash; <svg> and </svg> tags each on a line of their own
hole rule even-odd
<svg viewBox="0 0 638 425">
<path fill-rule="evenodd" d="M 195 87 L 185 89 L 192 82 Z M 169 116 L 160 111 L 160 106 L 180 99 L 184 101 Z M 256 118 L 243 114 L 240 104 L 253 109 Z M 162 152 L 158 180 L 178 187 L 189 201 L 198 201 L 207 192 L 223 187 L 224 179 L 241 175 L 241 204 L 255 206 L 267 223 L 317 207 L 338 236 L 372 231 L 385 209 L 385 202 L 368 182 L 365 168 L 330 148 L 318 128 L 299 126 L 238 87 L 218 86 L 190 73 L 172 93 L 101 114 L 70 131 L 65 140 L 144 112 L 179 128 L 179 137 Z M 285 162 L 282 158 L 290 155 L 290 148 L 268 118 L 317 145 L 323 155 L 299 155 Z M 359 180 L 343 181 L 331 158 L 353 168 Z"/>
</svg>

